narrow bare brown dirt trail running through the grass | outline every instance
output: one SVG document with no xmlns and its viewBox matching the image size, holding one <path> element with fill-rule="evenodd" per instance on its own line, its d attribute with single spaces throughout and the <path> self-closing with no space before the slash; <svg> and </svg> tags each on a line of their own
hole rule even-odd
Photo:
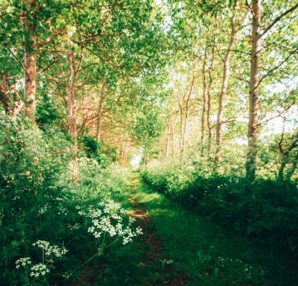
<svg viewBox="0 0 298 286">
<path fill-rule="evenodd" d="M 146 214 L 145 206 L 141 205 L 135 194 L 135 186 L 140 182 L 138 174 L 133 173 L 131 179 L 131 201 L 133 204 L 134 213 L 130 214 L 138 220 L 139 226 L 143 229 L 143 235 L 139 237 L 141 240 L 141 245 L 149 245 L 149 254 L 147 260 L 140 263 L 140 266 L 145 266 L 146 264 L 151 264 L 157 266 L 160 270 L 158 272 L 162 273 L 165 277 L 174 277 L 171 279 L 165 279 L 162 283 L 166 286 L 184 286 L 188 284 L 187 278 L 183 276 L 183 273 L 174 269 L 170 264 L 162 263 L 166 257 L 162 256 L 163 242 L 156 236 L 152 230 L 152 222 L 150 222 L 150 216 Z M 173 275 L 174 274 L 174 275 Z M 152 286 L 152 284 L 150 284 Z"/>
</svg>

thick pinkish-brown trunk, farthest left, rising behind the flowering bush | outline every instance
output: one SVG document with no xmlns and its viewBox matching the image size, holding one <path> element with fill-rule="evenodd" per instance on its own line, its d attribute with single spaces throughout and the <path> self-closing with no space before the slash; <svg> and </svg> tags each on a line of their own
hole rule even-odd
<svg viewBox="0 0 298 286">
<path fill-rule="evenodd" d="M 35 6 L 35 0 L 25 0 L 26 11 L 30 11 Z M 26 18 L 22 21 L 25 43 L 25 115 L 35 124 L 36 116 L 36 54 L 33 47 L 36 41 L 36 24 L 29 22 Z"/>
</svg>

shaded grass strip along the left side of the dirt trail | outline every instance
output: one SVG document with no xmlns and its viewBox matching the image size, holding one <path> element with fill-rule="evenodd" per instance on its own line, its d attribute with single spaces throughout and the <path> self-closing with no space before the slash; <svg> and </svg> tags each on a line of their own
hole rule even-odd
<svg viewBox="0 0 298 286">
<path fill-rule="evenodd" d="M 140 182 L 136 182 L 136 188 L 140 188 Z M 122 206 L 133 213 L 131 201 L 131 182 L 119 192 L 112 193 L 112 199 L 120 202 Z M 151 226 L 149 226 L 151 227 Z M 147 263 L 150 245 L 146 237 L 137 237 L 133 243 L 119 247 L 114 244 L 105 254 L 101 261 L 97 260 L 98 275 L 93 284 L 100 286 L 164 286 L 164 281 L 168 279 L 168 273 L 164 266 Z M 94 277 L 94 274 L 93 274 Z M 94 284 L 95 283 L 95 284 Z"/>
</svg>

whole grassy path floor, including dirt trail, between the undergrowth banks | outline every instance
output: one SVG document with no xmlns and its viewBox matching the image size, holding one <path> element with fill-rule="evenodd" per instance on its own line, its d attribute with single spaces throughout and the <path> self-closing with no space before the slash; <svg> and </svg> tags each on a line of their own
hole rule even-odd
<svg viewBox="0 0 298 286">
<path fill-rule="evenodd" d="M 113 196 L 144 234 L 113 247 L 75 285 L 298 286 L 297 269 L 282 256 L 156 193 L 139 173 Z"/>
</svg>

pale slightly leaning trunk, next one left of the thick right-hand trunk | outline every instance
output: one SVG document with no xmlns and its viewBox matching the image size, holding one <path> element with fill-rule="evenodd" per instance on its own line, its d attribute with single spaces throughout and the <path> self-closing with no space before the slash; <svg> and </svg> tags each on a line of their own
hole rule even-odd
<svg viewBox="0 0 298 286">
<path fill-rule="evenodd" d="M 220 101 L 219 101 L 219 111 L 217 116 L 217 123 L 216 123 L 216 143 L 217 143 L 217 151 L 216 151 L 216 162 L 219 162 L 221 160 L 222 155 L 222 122 L 223 122 L 223 115 L 224 115 L 224 100 L 225 100 L 225 94 L 227 90 L 227 82 L 229 77 L 229 64 L 230 64 L 230 58 L 232 54 L 232 49 L 234 47 L 235 41 L 236 41 L 236 8 L 237 4 L 235 6 L 235 12 L 233 14 L 233 17 L 231 19 L 231 37 L 230 42 L 224 57 L 224 72 L 223 72 L 223 81 L 222 81 L 222 90 L 220 94 Z"/>
</svg>

